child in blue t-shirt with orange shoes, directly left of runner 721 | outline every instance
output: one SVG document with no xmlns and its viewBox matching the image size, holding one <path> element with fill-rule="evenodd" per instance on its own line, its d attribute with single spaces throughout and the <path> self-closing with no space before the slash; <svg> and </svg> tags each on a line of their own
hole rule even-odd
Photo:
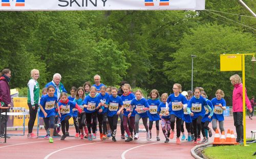
<svg viewBox="0 0 256 159">
<path fill-rule="evenodd" d="M 106 119 L 108 118 L 106 116 L 106 112 L 108 111 L 108 105 L 109 105 L 109 94 L 106 93 L 106 87 L 101 86 L 100 87 L 100 93 L 98 94 L 98 100 L 99 104 L 96 108 L 97 110 L 97 118 L 99 122 L 99 133 L 100 133 L 100 140 L 106 140 Z M 103 131 L 102 131 L 103 127 Z"/>
</svg>

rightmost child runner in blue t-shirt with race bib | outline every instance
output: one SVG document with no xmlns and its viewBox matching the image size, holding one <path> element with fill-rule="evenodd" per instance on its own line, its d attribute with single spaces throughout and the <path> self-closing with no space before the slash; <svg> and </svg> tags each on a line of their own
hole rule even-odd
<svg viewBox="0 0 256 159">
<path fill-rule="evenodd" d="M 223 99 L 225 96 L 224 92 L 222 90 L 217 90 L 216 93 L 216 98 L 211 99 L 212 105 L 214 105 L 214 115 L 212 116 L 212 129 L 216 131 L 217 129 L 217 121 L 219 121 L 219 127 L 221 132 L 225 131 L 224 129 L 224 115 L 223 111 L 226 110 L 226 101 Z"/>
</svg>

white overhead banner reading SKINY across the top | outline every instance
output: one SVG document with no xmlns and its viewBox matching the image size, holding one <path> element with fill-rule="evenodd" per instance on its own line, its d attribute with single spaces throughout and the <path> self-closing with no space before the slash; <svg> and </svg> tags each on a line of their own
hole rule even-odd
<svg viewBox="0 0 256 159">
<path fill-rule="evenodd" d="M 2 11 L 204 10 L 205 0 L 0 0 Z"/>
</svg>

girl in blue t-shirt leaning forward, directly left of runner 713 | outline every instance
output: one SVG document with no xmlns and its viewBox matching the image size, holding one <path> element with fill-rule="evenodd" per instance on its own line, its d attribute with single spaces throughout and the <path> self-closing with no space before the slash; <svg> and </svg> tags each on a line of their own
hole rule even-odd
<svg viewBox="0 0 256 159">
<path fill-rule="evenodd" d="M 146 129 L 146 140 L 148 141 L 150 140 L 150 131 L 148 130 L 148 126 L 147 126 L 147 117 L 148 117 L 147 111 L 150 109 L 150 106 L 148 105 L 147 100 L 144 97 L 142 97 L 141 90 L 137 90 L 135 92 L 135 96 L 136 98 L 134 98 L 131 102 L 133 112 L 136 113 L 135 115 L 136 135 L 134 137 L 134 140 L 139 139 L 139 120 L 140 118 L 142 118 L 143 125 L 145 126 L 145 129 Z M 133 112 L 130 114 L 132 115 Z"/>
</svg>

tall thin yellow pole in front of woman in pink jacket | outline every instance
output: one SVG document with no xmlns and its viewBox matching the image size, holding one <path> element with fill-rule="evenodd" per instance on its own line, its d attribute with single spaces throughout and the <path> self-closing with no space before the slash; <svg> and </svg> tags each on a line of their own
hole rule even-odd
<svg viewBox="0 0 256 159">
<path fill-rule="evenodd" d="M 243 75 L 243 123 L 244 123 L 244 146 L 246 145 L 246 113 L 245 113 L 245 55 L 242 55 L 242 75 Z"/>
</svg>

